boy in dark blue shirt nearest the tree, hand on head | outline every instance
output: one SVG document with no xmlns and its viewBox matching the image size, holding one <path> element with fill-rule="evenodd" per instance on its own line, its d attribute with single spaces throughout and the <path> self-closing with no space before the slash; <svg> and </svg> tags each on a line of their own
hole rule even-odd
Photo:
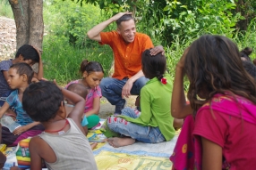
<svg viewBox="0 0 256 170">
<path fill-rule="evenodd" d="M 3 106 L 6 97 L 12 92 L 12 89 L 7 83 L 8 70 L 13 64 L 19 62 L 26 62 L 30 66 L 38 62 L 38 73 L 34 73 L 33 77 L 38 80 L 43 77 L 43 63 L 40 53 L 32 45 L 22 45 L 18 49 L 15 59 L 0 62 L 0 106 Z"/>
</svg>

